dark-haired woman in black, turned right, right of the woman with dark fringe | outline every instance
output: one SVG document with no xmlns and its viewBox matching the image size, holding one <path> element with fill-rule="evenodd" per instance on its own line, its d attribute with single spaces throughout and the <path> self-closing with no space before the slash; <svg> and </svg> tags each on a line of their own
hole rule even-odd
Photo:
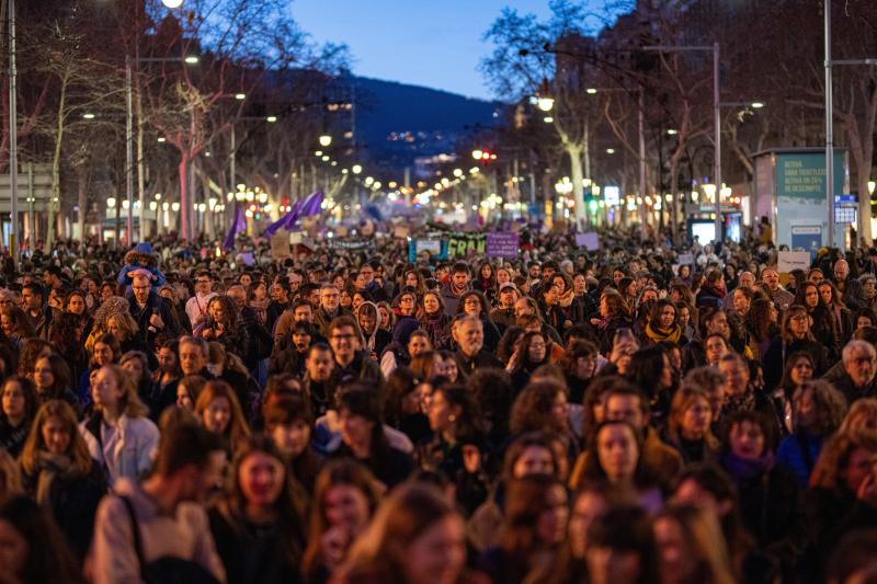
<svg viewBox="0 0 877 584">
<path fill-rule="evenodd" d="M 363 463 L 387 488 L 392 488 L 411 473 L 411 457 L 390 446 L 384 434 L 380 398 L 365 386 L 352 386 L 339 398 L 341 447 L 334 457 L 352 458 Z"/>
</svg>

